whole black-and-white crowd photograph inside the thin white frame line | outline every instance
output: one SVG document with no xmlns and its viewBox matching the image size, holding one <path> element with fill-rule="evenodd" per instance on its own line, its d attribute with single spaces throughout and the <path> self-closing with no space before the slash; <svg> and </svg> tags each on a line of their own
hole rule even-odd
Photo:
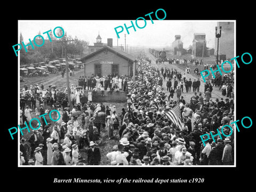
<svg viewBox="0 0 256 192">
<path fill-rule="evenodd" d="M 18 21 L 19 167 L 236 166 L 236 21 L 145 19 Z"/>
</svg>

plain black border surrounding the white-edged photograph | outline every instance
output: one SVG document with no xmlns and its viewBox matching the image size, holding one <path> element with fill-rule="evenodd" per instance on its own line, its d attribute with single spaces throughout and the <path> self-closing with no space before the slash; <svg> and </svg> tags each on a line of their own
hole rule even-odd
<svg viewBox="0 0 256 192">
<path fill-rule="evenodd" d="M 151 179 L 151 178 L 173 178 L 173 179 L 191 179 L 191 178 L 204 178 L 204 183 L 168 183 L 162 185 L 146 184 L 143 187 L 170 187 L 173 189 L 183 186 L 188 186 L 190 189 L 198 187 L 198 190 L 209 190 L 211 188 L 219 189 L 220 185 L 226 185 L 226 187 L 239 186 L 242 183 L 250 185 L 252 183 L 253 175 L 250 175 L 254 164 L 254 145 L 252 143 L 254 139 L 255 130 L 253 126 L 250 129 L 240 128 L 240 132 L 237 133 L 237 167 L 154 167 L 154 168 L 134 168 L 134 167 L 17 167 L 17 139 L 11 140 L 10 134 L 7 129 L 15 126 L 18 116 L 18 57 L 15 57 L 13 53 L 12 45 L 18 42 L 18 20 L 135 20 L 138 17 L 142 17 L 150 12 L 155 12 L 157 9 L 164 9 L 167 13 L 165 20 L 236 20 L 236 55 L 242 55 L 244 52 L 251 53 L 253 62 L 250 65 L 242 64 L 241 60 L 239 64 L 240 68 L 237 68 L 237 84 L 236 84 L 236 115 L 237 119 L 242 119 L 244 116 L 252 118 L 253 125 L 255 121 L 255 115 L 250 111 L 253 108 L 254 100 L 254 83 L 253 83 L 253 66 L 255 49 L 254 34 L 253 34 L 253 5 L 225 5 L 223 2 L 191 2 L 187 4 L 185 2 L 170 2 L 166 4 L 164 2 L 147 2 L 142 3 L 142 6 L 132 4 L 130 2 L 118 2 L 111 3 L 106 2 L 107 5 L 102 5 L 101 2 L 95 2 L 94 5 L 77 3 L 71 5 L 71 8 L 67 3 L 65 5 L 53 5 L 49 4 L 33 4 L 33 9 L 25 4 L 17 5 L 17 9 L 12 10 L 12 18 L 4 21 L 5 29 L 2 30 L 2 37 L 4 37 L 4 48 L 2 52 L 2 75 L 3 79 L 3 92 L 4 106 L 2 108 L 2 138 L 5 142 L 2 146 L 3 153 L 2 159 L 4 160 L 2 166 L 6 166 L 7 172 L 4 172 L 4 185 L 10 186 L 10 184 L 17 183 L 17 186 L 22 186 L 22 190 L 39 188 L 45 189 L 60 189 L 70 186 L 73 187 L 93 187 L 94 189 L 102 186 L 110 187 L 107 183 L 101 183 L 100 185 L 89 183 L 53 183 L 53 179 L 58 177 L 60 179 L 69 178 L 83 178 L 83 179 Z M 70 3 L 72 4 L 72 3 Z M 78 5 L 78 4 L 81 4 Z M 149 6 L 146 6 L 148 5 Z M 23 11 L 22 11 L 23 10 Z M 27 11 L 26 11 L 27 10 Z M 37 10 L 34 11 L 33 10 Z M 17 15 L 15 15 L 17 13 Z M 6 18 L 6 15 L 5 17 Z M 114 26 L 113 26 L 114 27 Z M 7 53 L 7 55 L 5 54 Z M 17 67 L 16 67 L 17 66 Z M 6 76 L 5 76 L 6 75 Z M 6 79 L 7 78 L 7 79 Z M 7 101 L 7 102 L 6 102 Z M 253 173 L 252 173 L 253 174 Z M 127 183 L 129 186 L 131 183 Z M 124 187 L 125 184 L 117 185 L 115 188 L 109 188 L 111 190 L 116 187 Z M 134 186 L 141 186 L 140 184 L 133 183 Z M 50 187 L 51 186 L 51 187 Z M 226 188 L 225 187 L 225 188 Z M 27 188 L 27 189 L 26 189 Z M 89 188 L 87 188 L 89 189 Z M 132 188 L 131 188 L 132 189 Z M 133 188 L 134 189 L 134 188 Z M 136 188 L 139 189 L 139 188 Z M 145 188 L 141 188 L 145 189 Z M 223 189 L 223 188 L 222 188 Z"/>
</svg>

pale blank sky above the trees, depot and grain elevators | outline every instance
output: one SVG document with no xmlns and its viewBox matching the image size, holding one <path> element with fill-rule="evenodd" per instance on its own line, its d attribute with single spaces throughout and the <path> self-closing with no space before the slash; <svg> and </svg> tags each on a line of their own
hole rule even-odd
<svg viewBox="0 0 256 192">
<path fill-rule="evenodd" d="M 125 30 L 124 23 L 127 27 L 131 26 L 131 20 L 19 20 L 18 36 L 21 33 L 24 43 L 29 42 L 29 38 L 33 41 L 34 37 L 41 32 L 43 37 L 47 37 L 47 34 L 43 34 L 45 31 L 52 30 L 55 27 L 62 27 L 73 38 L 75 36 L 78 39 L 88 41 L 90 45 L 96 42 L 96 37 L 100 34 L 102 43 L 107 43 L 107 38 L 113 38 L 113 46 L 117 45 L 117 34 L 115 27 L 122 26 L 124 28 L 122 33 L 119 33 L 118 45 L 124 45 L 126 34 L 126 45 L 128 46 L 171 46 L 174 41 L 175 35 L 181 35 L 181 41 L 183 42 L 183 48 L 187 48 L 192 45 L 194 33 L 206 34 L 206 46 L 214 48 L 215 41 L 215 26 L 217 21 L 212 20 L 146 20 L 146 27 L 139 29 L 135 25 L 136 31 L 133 28 L 129 28 L 129 33 Z M 145 25 L 143 20 L 138 20 L 138 26 Z M 118 31 L 121 28 L 117 29 Z"/>
</svg>

